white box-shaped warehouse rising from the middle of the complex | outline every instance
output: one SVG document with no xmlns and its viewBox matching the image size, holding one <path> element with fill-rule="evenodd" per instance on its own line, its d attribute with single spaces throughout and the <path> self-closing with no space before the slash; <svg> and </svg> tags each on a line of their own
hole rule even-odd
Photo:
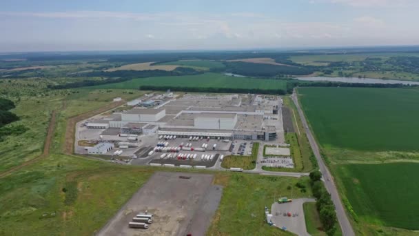
<svg viewBox="0 0 419 236">
<path fill-rule="evenodd" d="M 237 123 L 237 114 L 200 113 L 194 119 L 195 128 L 211 130 L 233 130 Z"/>
</svg>

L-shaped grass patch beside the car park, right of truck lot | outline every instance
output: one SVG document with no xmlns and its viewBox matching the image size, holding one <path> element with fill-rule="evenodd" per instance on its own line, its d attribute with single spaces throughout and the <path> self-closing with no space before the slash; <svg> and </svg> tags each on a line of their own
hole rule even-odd
<svg viewBox="0 0 419 236">
<path fill-rule="evenodd" d="M 224 157 L 221 162 L 223 168 L 243 168 L 243 170 L 253 170 L 256 168 L 256 160 L 258 159 L 259 143 L 254 143 L 251 156 L 230 155 Z"/>
</svg>

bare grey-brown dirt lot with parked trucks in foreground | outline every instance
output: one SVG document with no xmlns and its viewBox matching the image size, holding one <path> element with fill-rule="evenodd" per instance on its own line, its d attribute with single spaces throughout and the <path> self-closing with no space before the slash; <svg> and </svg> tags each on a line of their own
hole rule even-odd
<svg viewBox="0 0 419 236">
<path fill-rule="evenodd" d="M 180 179 L 179 176 L 190 176 Z M 221 186 L 212 175 L 155 173 L 98 235 L 205 235 L 221 199 Z M 147 229 L 128 228 L 136 214 L 153 214 Z"/>
</svg>

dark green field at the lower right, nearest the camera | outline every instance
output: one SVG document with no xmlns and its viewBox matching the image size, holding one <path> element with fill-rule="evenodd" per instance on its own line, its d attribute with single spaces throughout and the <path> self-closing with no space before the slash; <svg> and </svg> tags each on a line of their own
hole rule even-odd
<svg viewBox="0 0 419 236">
<path fill-rule="evenodd" d="M 337 168 L 359 222 L 419 229 L 419 164 L 348 164 Z"/>
</svg>

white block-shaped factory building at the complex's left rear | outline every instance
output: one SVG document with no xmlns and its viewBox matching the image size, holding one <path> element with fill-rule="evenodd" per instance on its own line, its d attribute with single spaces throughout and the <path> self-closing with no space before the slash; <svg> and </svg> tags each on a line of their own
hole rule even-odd
<svg viewBox="0 0 419 236">
<path fill-rule="evenodd" d="M 156 122 L 166 115 L 165 109 L 132 109 L 121 114 L 121 121 Z"/>
</svg>

